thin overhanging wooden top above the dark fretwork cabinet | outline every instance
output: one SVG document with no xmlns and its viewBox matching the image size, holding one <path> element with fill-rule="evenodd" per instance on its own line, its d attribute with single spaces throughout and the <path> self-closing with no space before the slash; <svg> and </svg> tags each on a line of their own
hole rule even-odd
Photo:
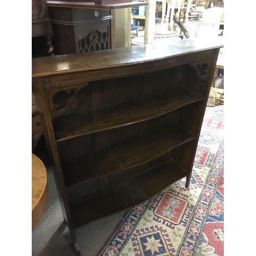
<svg viewBox="0 0 256 256">
<path fill-rule="evenodd" d="M 104 9 L 104 10 L 115 10 L 115 9 L 122 9 L 122 8 L 130 8 L 130 7 L 137 7 L 137 6 L 147 6 L 149 3 L 147 2 L 128 2 L 128 3 L 111 3 L 111 4 L 104 4 L 98 5 L 95 3 L 89 2 L 72 2 L 72 1 L 47 1 L 49 7 L 65 7 L 65 8 L 86 8 L 86 9 Z"/>
</svg>

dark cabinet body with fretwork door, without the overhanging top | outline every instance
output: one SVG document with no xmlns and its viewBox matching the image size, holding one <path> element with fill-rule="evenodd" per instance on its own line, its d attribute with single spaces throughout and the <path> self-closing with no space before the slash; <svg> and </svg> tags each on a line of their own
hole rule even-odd
<svg viewBox="0 0 256 256">
<path fill-rule="evenodd" d="M 56 54 L 111 48 L 109 10 L 49 7 Z"/>
</svg>

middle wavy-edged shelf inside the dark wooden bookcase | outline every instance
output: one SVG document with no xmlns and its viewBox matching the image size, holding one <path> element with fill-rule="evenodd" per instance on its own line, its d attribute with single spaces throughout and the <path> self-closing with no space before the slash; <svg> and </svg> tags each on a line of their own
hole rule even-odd
<svg viewBox="0 0 256 256">
<path fill-rule="evenodd" d="M 171 126 L 131 142 L 62 163 L 66 187 L 151 161 L 195 139 L 180 126 Z"/>
</svg>

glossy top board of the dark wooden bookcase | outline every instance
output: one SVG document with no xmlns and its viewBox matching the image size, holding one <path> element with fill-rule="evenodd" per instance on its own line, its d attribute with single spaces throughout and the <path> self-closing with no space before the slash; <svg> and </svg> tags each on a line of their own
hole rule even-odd
<svg viewBox="0 0 256 256">
<path fill-rule="evenodd" d="M 156 62 L 158 59 L 170 57 L 175 59 L 180 55 L 203 52 L 223 45 L 223 38 L 220 37 L 214 40 L 189 38 L 172 41 L 170 44 L 159 42 L 136 47 L 33 58 L 32 78 L 99 69 L 110 71 L 111 68 L 133 66 L 141 62 Z"/>
</svg>

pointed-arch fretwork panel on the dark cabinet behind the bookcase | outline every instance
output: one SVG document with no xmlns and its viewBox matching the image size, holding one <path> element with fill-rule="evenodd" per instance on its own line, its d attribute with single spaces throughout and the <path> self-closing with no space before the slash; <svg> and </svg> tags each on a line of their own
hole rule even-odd
<svg viewBox="0 0 256 256">
<path fill-rule="evenodd" d="M 110 49 L 109 31 L 92 30 L 89 35 L 78 40 L 78 52 L 92 52 Z"/>
</svg>

